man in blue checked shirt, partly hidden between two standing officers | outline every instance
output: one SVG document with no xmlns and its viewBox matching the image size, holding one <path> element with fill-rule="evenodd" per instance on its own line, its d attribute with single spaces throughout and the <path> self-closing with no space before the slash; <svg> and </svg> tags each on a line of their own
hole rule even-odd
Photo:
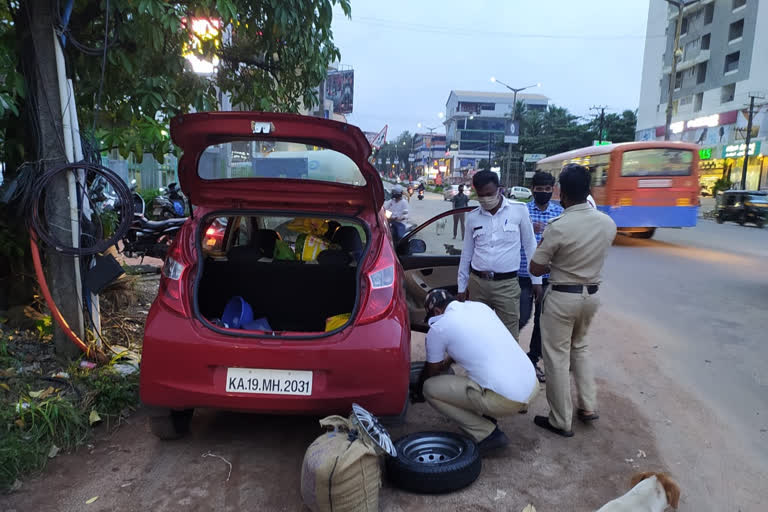
<svg viewBox="0 0 768 512">
<path fill-rule="evenodd" d="M 533 201 L 528 203 L 528 213 L 531 216 L 537 244 L 541 242 L 541 235 L 544 233 L 544 228 L 547 227 L 549 220 L 563 213 L 563 208 L 550 200 L 554 185 L 554 176 L 547 172 L 539 171 L 533 175 Z M 520 270 L 517 272 L 517 277 L 520 282 L 520 330 L 522 330 L 531 318 L 534 287 L 538 286 L 531 283 L 531 275 L 528 272 L 528 260 L 525 257 L 524 251 L 520 251 Z M 549 281 L 548 274 L 543 277 L 538 297 L 544 296 L 544 289 L 546 289 Z M 541 359 L 540 319 L 541 302 L 536 301 L 536 309 L 533 315 L 533 334 L 531 335 L 528 357 L 531 359 L 534 368 L 536 368 L 536 377 L 539 379 L 539 382 L 545 382 L 546 376 L 544 371 L 538 366 L 539 359 Z"/>
</svg>

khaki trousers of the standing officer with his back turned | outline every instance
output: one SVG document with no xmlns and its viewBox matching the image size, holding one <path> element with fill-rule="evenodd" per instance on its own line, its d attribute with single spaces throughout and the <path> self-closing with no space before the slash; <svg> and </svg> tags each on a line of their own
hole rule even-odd
<svg viewBox="0 0 768 512">
<path fill-rule="evenodd" d="M 573 370 L 579 409 L 597 410 L 595 376 L 586 340 L 589 324 L 600 306 L 597 295 L 589 295 L 586 289 L 582 293 L 556 292 L 551 286 L 544 295 L 541 342 L 549 422 L 563 430 L 571 430 L 573 419 L 569 370 Z"/>
</svg>

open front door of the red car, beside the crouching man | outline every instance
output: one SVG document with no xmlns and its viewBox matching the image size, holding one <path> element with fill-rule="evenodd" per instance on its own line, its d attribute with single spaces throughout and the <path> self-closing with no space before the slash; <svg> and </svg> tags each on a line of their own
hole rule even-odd
<svg viewBox="0 0 768 512">
<path fill-rule="evenodd" d="M 435 288 L 458 292 L 459 260 L 464 246 L 462 220 L 473 207 L 450 210 L 432 217 L 397 244 L 397 255 L 405 270 L 405 296 L 411 329 L 427 332 L 424 299 Z M 453 239 L 454 219 L 459 223 Z M 470 233 L 466 233 L 471 236 Z"/>
</svg>

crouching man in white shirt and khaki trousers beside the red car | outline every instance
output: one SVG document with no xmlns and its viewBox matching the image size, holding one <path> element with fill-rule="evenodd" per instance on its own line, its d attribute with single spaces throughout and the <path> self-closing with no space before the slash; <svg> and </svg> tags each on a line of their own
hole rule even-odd
<svg viewBox="0 0 768 512">
<path fill-rule="evenodd" d="M 481 454 L 509 438 L 496 418 L 528 408 L 539 389 L 531 360 L 491 308 L 459 302 L 445 290 L 425 301 L 429 332 L 423 397 L 477 441 Z M 453 363 L 467 376 L 439 375 Z"/>
</svg>

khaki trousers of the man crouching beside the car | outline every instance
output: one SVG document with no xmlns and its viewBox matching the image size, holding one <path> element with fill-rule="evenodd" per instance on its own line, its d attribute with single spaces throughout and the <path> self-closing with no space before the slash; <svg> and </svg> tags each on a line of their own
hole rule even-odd
<svg viewBox="0 0 768 512">
<path fill-rule="evenodd" d="M 528 407 L 538 391 L 536 383 L 528 401 L 522 403 L 482 388 L 469 377 L 460 375 L 438 375 L 424 382 L 424 398 L 429 405 L 455 421 L 477 442 L 491 435 L 496 428 L 492 421 L 483 418 L 484 414 L 494 418 L 517 414 L 520 409 Z"/>
</svg>

